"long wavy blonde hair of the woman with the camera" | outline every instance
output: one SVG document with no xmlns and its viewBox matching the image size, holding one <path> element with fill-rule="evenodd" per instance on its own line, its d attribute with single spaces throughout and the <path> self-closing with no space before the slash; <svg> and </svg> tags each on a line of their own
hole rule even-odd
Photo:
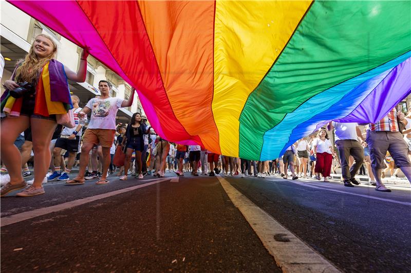
<svg viewBox="0 0 411 273">
<path fill-rule="evenodd" d="M 37 55 L 34 53 L 34 43 L 31 45 L 29 53 L 27 53 L 26 57 L 24 60 L 21 60 L 21 66 L 19 66 L 16 69 L 16 74 L 14 77 L 14 81 L 16 82 L 23 82 L 23 81 L 28 81 L 28 82 L 36 82 L 38 77 L 39 77 L 39 72 L 41 69 L 46 65 L 46 63 L 55 58 L 57 55 L 57 44 L 54 43 L 53 39 L 47 35 L 47 34 L 39 34 L 37 37 L 43 36 L 47 38 L 48 40 L 51 41 L 51 44 L 53 44 L 53 51 L 50 53 L 50 55 L 39 59 Z"/>
</svg>

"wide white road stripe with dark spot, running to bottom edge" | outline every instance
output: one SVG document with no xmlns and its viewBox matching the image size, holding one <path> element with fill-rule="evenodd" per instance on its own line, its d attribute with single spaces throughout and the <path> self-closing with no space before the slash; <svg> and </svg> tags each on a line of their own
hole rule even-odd
<svg viewBox="0 0 411 273">
<path fill-rule="evenodd" d="M 220 176 L 217 176 L 217 179 L 283 271 L 340 272 L 263 209 L 238 192 L 226 179 Z"/>
</svg>

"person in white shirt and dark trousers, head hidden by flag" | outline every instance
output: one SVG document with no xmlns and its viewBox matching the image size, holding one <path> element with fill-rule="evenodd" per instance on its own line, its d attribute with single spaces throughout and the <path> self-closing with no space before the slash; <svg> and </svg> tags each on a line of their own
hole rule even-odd
<svg viewBox="0 0 411 273">
<path fill-rule="evenodd" d="M 332 129 L 334 129 L 335 144 L 340 154 L 341 175 L 344 179 L 344 186 L 353 187 L 352 184 L 359 185 L 360 183 L 355 179 L 355 176 L 364 162 L 364 149 L 358 141 L 358 138 L 361 139 L 361 143 L 364 142 L 364 139 L 358 123 L 331 121 L 329 123 L 329 131 Z M 349 168 L 350 156 L 354 158 L 354 163 Z"/>
</svg>

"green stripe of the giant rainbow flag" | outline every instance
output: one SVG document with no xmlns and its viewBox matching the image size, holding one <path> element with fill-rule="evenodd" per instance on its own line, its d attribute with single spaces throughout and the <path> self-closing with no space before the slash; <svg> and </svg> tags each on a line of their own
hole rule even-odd
<svg viewBox="0 0 411 273">
<path fill-rule="evenodd" d="M 410 10 L 409 1 L 315 2 L 247 100 L 240 157 L 259 158 L 264 133 L 310 97 L 411 50 Z"/>
</svg>

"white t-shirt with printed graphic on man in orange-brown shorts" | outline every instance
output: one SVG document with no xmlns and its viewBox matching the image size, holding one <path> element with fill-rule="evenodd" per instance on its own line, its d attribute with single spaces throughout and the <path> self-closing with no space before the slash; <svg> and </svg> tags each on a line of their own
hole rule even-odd
<svg viewBox="0 0 411 273">
<path fill-rule="evenodd" d="M 116 130 L 116 115 L 123 100 L 122 98 L 90 99 L 86 105 L 91 109 L 88 129 Z"/>
</svg>

